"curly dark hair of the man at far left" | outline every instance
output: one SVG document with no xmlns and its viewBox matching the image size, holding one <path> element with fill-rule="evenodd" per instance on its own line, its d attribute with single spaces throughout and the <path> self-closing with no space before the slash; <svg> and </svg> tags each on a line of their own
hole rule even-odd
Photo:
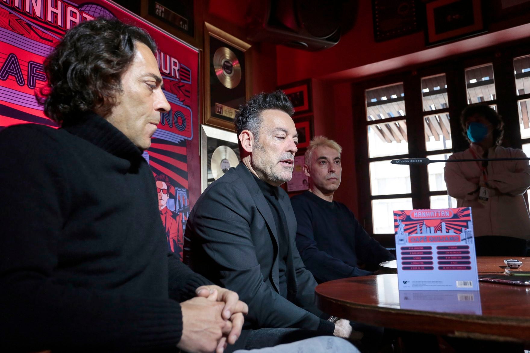
<svg viewBox="0 0 530 353">
<path fill-rule="evenodd" d="M 81 22 L 66 32 L 44 63 L 49 87 L 38 100 L 46 116 L 63 123 L 76 113 L 112 109 L 122 92 L 121 75 L 136 54 L 135 42 L 156 52 L 146 31 L 118 20 Z"/>
</svg>

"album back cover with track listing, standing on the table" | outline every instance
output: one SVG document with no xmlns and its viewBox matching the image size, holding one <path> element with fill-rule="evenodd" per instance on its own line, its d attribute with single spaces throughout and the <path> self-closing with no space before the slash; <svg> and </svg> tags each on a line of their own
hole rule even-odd
<svg viewBox="0 0 530 353">
<path fill-rule="evenodd" d="M 470 207 L 394 211 L 399 289 L 479 290 Z"/>
</svg>

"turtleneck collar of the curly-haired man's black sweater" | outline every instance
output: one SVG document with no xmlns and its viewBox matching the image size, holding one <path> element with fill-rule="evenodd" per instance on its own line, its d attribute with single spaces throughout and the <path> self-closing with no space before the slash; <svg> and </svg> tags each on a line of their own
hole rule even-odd
<svg viewBox="0 0 530 353">
<path fill-rule="evenodd" d="M 74 122 L 63 124 L 62 128 L 117 157 L 132 161 L 142 155 L 127 136 L 94 112 L 82 113 Z"/>
</svg>

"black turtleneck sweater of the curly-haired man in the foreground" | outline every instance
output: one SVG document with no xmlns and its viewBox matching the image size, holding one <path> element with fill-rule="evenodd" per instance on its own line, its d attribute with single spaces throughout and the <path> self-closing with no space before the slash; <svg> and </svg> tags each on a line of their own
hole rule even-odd
<svg viewBox="0 0 530 353">
<path fill-rule="evenodd" d="M 168 254 L 140 150 L 93 113 L 8 127 L 0 150 L 0 347 L 175 347 L 209 281 Z"/>
</svg>

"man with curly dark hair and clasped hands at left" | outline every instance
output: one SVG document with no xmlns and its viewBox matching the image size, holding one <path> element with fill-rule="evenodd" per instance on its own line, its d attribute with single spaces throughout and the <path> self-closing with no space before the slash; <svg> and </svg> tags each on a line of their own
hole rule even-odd
<svg viewBox="0 0 530 353">
<path fill-rule="evenodd" d="M 167 251 L 142 157 L 170 109 L 155 50 L 116 20 L 77 25 L 45 63 L 61 128 L 0 134 L 0 350 L 220 352 L 240 336 L 246 304 Z"/>
</svg>

